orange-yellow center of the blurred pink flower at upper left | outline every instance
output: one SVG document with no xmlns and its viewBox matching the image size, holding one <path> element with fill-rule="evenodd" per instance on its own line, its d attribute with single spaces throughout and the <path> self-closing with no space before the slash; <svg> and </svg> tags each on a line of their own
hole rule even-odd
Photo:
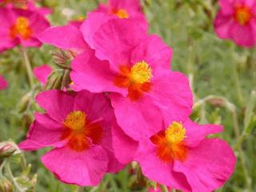
<svg viewBox="0 0 256 192">
<path fill-rule="evenodd" d="M 10 37 L 17 38 L 17 36 L 22 37 L 23 39 L 29 39 L 33 31 L 30 28 L 30 22 L 25 17 L 18 17 L 14 26 L 10 28 Z"/>
</svg>

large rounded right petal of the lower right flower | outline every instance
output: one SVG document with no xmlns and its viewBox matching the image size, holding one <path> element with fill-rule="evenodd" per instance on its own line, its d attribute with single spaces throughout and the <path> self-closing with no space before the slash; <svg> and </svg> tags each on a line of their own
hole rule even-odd
<svg viewBox="0 0 256 192">
<path fill-rule="evenodd" d="M 174 162 L 174 171 L 186 175 L 193 191 L 214 191 L 234 171 L 236 158 L 230 146 L 221 139 L 205 139 L 191 148 L 185 162 Z"/>
</svg>

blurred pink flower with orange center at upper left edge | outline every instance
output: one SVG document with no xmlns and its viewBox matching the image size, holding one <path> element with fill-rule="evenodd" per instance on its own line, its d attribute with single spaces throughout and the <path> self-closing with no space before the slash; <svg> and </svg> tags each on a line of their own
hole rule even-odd
<svg viewBox="0 0 256 192">
<path fill-rule="evenodd" d="M 50 26 L 41 14 L 30 10 L 10 7 L 1 8 L 0 12 L 0 51 L 11 49 L 21 44 L 41 46 L 38 34 Z"/>
</svg>

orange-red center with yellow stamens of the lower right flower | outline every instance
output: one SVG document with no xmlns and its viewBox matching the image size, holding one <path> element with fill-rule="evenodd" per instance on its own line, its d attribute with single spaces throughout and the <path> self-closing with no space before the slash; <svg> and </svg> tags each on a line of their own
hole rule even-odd
<svg viewBox="0 0 256 192">
<path fill-rule="evenodd" d="M 150 138 L 157 146 L 158 158 L 163 162 L 173 162 L 186 160 L 187 147 L 184 142 L 186 130 L 179 122 L 173 122 L 166 131 L 154 135 Z"/>
</svg>

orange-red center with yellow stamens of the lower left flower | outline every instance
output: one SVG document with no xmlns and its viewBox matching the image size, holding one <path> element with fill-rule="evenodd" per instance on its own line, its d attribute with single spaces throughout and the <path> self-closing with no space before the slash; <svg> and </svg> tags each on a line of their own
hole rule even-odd
<svg viewBox="0 0 256 192">
<path fill-rule="evenodd" d="M 102 138 L 102 127 L 98 123 L 89 122 L 86 113 L 77 110 L 66 116 L 63 122 L 65 130 L 62 140 L 68 140 L 68 146 L 75 151 L 89 149 L 90 143 L 98 144 Z"/>
</svg>

